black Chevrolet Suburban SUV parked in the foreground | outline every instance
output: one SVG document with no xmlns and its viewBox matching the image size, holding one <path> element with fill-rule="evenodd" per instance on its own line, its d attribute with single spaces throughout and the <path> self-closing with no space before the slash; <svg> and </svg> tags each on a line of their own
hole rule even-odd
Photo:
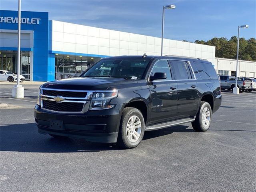
<svg viewBox="0 0 256 192">
<path fill-rule="evenodd" d="M 211 62 L 116 56 L 79 78 L 40 86 L 34 116 L 42 134 L 134 148 L 144 131 L 188 122 L 196 131 L 208 130 L 220 104 L 220 81 Z"/>
</svg>

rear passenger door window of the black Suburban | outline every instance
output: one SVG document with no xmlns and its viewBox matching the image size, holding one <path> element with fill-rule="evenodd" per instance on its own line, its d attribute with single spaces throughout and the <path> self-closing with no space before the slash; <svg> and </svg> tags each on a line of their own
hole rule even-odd
<svg viewBox="0 0 256 192">
<path fill-rule="evenodd" d="M 175 72 L 176 80 L 191 79 L 190 71 L 188 70 L 188 65 L 184 61 L 172 60 L 172 68 Z"/>
</svg>

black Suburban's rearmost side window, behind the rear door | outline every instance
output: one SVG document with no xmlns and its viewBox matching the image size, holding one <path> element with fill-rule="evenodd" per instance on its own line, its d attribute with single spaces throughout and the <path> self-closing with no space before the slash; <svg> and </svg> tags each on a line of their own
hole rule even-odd
<svg viewBox="0 0 256 192">
<path fill-rule="evenodd" d="M 216 79 L 218 76 L 211 63 L 193 61 L 202 79 Z"/>
</svg>

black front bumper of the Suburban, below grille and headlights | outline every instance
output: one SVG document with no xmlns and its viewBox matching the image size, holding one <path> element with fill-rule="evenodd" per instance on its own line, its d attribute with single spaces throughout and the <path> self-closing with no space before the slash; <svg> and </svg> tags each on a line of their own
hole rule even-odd
<svg viewBox="0 0 256 192">
<path fill-rule="evenodd" d="M 60 114 L 42 110 L 36 105 L 34 117 L 38 132 L 60 136 L 84 138 L 91 142 L 113 143 L 117 141 L 120 114 L 115 108 L 88 111 L 84 114 Z M 60 121 L 60 129 L 52 128 L 52 121 Z"/>
</svg>

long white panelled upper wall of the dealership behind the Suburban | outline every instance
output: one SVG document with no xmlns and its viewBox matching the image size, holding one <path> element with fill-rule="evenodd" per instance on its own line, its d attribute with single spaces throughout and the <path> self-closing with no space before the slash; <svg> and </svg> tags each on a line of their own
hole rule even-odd
<svg viewBox="0 0 256 192">
<path fill-rule="evenodd" d="M 54 20 L 51 22 L 49 49 L 52 51 L 100 56 L 161 54 L 161 38 Z M 214 62 L 215 47 L 164 39 L 163 55 L 169 54 Z"/>
</svg>

